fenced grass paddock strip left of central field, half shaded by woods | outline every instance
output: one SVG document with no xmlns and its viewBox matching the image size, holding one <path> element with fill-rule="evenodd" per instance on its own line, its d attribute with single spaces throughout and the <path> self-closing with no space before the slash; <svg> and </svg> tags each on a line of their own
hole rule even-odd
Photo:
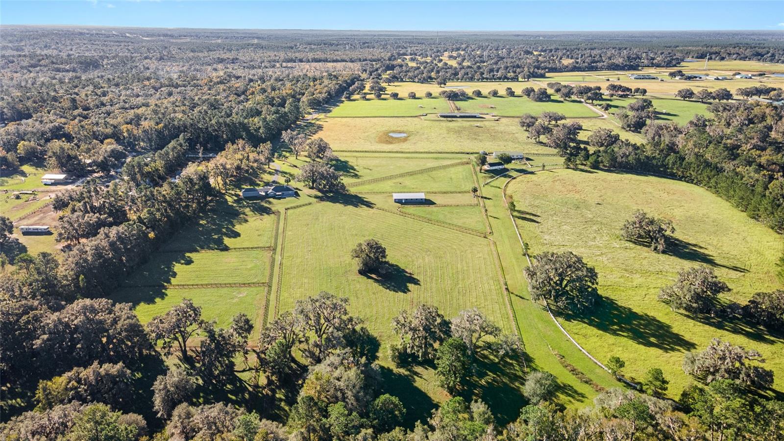
<svg viewBox="0 0 784 441">
<path fill-rule="evenodd" d="M 260 326 L 276 226 L 261 201 L 220 203 L 166 242 L 111 300 L 132 303 L 143 323 L 190 298 L 202 318 L 219 326 L 240 312 Z M 227 283 L 254 286 L 222 286 Z"/>
</svg>

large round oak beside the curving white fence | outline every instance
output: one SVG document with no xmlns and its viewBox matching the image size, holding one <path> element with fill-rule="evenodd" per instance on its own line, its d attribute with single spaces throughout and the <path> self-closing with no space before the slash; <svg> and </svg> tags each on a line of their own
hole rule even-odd
<svg viewBox="0 0 784 441">
<path fill-rule="evenodd" d="M 588 312 L 599 298 L 596 269 L 571 251 L 540 253 L 524 274 L 535 300 L 545 299 L 564 311 Z"/>
</svg>

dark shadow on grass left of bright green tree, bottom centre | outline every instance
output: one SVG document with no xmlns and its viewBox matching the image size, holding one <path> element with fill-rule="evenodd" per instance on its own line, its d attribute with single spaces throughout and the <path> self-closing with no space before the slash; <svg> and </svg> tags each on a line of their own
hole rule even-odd
<svg viewBox="0 0 784 441">
<path fill-rule="evenodd" d="M 436 408 L 436 403 L 422 389 L 414 385 L 419 374 L 415 370 L 392 370 L 387 366 L 380 366 L 383 379 L 382 390 L 379 393 L 388 393 L 397 396 L 405 406 L 404 424 L 413 428 L 416 421 L 427 421 L 431 412 Z"/>
</svg>

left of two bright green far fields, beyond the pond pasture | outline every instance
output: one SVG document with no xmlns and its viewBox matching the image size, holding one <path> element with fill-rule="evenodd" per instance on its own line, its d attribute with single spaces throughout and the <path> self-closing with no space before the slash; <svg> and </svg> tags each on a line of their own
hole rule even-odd
<svg viewBox="0 0 784 441">
<path fill-rule="evenodd" d="M 389 97 L 377 100 L 372 95 L 368 95 L 367 100 L 360 100 L 354 97 L 353 100 L 343 101 L 329 115 L 333 118 L 357 117 L 357 116 L 416 116 L 423 113 L 439 113 L 450 111 L 449 103 L 441 97 L 417 97 L 410 99 L 406 94 L 401 93 L 397 100 Z"/>
</svg>

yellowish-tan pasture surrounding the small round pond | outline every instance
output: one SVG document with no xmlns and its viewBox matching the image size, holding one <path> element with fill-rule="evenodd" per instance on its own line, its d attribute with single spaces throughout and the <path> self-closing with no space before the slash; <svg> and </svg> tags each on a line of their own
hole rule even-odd
<svg viewBox="0 0 784 441">
<path fill-rule="evenodd" d="M 316 136 L 337 151 L 460 152 L 525 151 L 552 153 L 551 148 L 526 139 L 516 118 L 499 121 L 474 119 L 448 121 L 423 118 L 320 118 Z M 408 137 L 390 141 L 390 132 Z"/>
</svg>

